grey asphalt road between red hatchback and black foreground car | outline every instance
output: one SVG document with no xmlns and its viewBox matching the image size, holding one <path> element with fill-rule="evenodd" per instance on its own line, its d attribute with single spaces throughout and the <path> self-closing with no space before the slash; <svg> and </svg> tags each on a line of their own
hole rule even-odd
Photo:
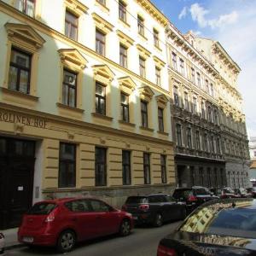
<svg viewBox="0 0 256 256">
<path fill-rule="evenodd" d="M 21 247 L 6 251 L 8 256 L 68 255 L 68 256 L 155 256 L 158 242 L 171 233 L 180 222 L 164 224 L 160 228 L 140 227 L 130 236 L 108 236 L 94 241 L 85 241 L 71 253 L 56 253 L 54 248 Z"/>
</svg>

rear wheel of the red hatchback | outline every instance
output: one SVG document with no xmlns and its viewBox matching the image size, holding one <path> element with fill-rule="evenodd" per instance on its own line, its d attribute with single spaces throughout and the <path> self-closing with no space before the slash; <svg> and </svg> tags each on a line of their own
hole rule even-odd
<svg viewBox="0 0 256 256">
<path fill-rule="evenodd" d="M 70 252 L 76 243 L 76 236 L 72 230 L 65 230 L 57 241 L 57 249 L 60 253 Z"/>
</svg>

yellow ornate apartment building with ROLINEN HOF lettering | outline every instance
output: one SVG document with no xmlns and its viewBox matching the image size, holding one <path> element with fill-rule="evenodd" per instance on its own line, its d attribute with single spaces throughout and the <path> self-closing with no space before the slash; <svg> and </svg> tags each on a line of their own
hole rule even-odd
<svg viewBox="0 0 256 256">
<path fill-rule="evenodd" d="M 173 189 L 167 23 L 146 0 L 0 1 L 0 229 L 44 198 Z"/>
</svg>

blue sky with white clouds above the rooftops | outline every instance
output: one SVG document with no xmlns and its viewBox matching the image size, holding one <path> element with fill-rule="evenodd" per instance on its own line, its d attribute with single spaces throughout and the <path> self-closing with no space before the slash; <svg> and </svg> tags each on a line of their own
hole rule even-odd
<svg viewBox="0 0 256 256">
<path fill-rule="evenodd" d="M 256 137 L 256 0 L 151 0 L 177 29 L 223 45 L 241 67 L 248 137 Z"/>
</svg>

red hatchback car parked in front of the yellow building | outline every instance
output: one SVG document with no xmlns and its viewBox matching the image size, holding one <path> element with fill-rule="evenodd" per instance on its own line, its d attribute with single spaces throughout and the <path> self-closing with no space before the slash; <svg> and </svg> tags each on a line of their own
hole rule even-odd
<svg viewBox="0 0 256 256">
<path fill-rule="evenodd" d="M 77 241 L 131 233 L 131 214 L 95 198 L 63 198 L 36 203 L 22 219 L 18 240 L 27 245 L 55 246 L 61 253 Z"/>
</svg>

